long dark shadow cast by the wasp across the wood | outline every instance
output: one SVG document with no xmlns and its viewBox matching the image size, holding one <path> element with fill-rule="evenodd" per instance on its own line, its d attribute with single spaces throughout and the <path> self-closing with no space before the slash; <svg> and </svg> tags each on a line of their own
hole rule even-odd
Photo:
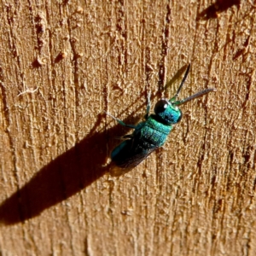
<svg viewBox="0 0 256 256">
<path fill-rule="evenodd" d="M 171 81 L 172 83 L 178 79 L 184 67 L 177 71 Z M 151 99 L 156 96 L 158 94 L 151 96 Z M 131 113 L 132 120 L 128 118 L 124 121 L 136 123 L 141 117 L 135 116 L 134 118 L 134 115 L 143 106 L 146 107 L 146 102 L 142 101 L 141 104 L 137 105 L 134 113 Z M 128 108 L 125 108 L 124 113 L 127 113 Z M 109 166 L 106 166 L 108 134 L 121 137 L 124 135 L 124 129 L 121 129 L 122 134 L 119 134 L 120 125 L 116 124 L 113 128 L 108 129 L 108 132 L 96 131 L 104 117 L 103 114 L 99 114 L 96 124 L 87 137 L 44 166 L 22 188 L 3 201 L 0 205 L 0 222 L 2 224 L 17 224 L 26 219 L 37 217 L 44 210 L 65 201 L 108 172 Z M 125 131 L 128 130 L 125 129 Z M 118 143 L 117 141 L 116 144 Z"/>
</svg>

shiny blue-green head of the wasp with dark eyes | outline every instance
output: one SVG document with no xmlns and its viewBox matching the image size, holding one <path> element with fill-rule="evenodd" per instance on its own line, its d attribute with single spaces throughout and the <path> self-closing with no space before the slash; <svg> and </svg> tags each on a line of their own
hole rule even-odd
<svg viewBox="0 0 256 256">
<path fill-rule="evenodd" d="M 167 125 L 177 124 L 182 119 L 182 112 L 166 99 L 161 99 L 154 106 L 154 113 Z"/>
</svg>

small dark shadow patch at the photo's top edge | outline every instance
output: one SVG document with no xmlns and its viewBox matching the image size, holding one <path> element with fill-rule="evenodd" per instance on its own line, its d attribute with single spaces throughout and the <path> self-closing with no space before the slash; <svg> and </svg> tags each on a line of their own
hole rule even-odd
<svg viewBox="0 0 256 256">
<path fill-rule="evenodd" d="M 209 20 L 218 18 L 218 14 L 230 9 L 233 5 L 240 7 L 241 0 L 217 0 L 207 9 L 204 9 L 196 20 Z"/>
</svg>

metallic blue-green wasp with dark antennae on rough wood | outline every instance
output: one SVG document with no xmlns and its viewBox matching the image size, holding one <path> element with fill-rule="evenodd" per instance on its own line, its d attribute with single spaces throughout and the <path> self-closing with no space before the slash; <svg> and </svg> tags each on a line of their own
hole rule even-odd
<svg viewBox="0 0 256 256">
<path fill-rule="evenodd" d="M 215 91 L 214 88 L 201 90 L 188 98 L 177 101 L 177 96 L 183 88 L 183 84 L 188 77 L 190 64 L 187 67 L 186 73 L 181 84 L 177 89 L 177 93 L 170 100 L 160 99 L 154 106 L 154 113 L 149 115 L 150 99 L 148 97 L 148 106 L 145 115 L 145 121 L 138 125 L 126 125 L 120 119 L 113 117 L 120 125 L 134 129 L 132 134 L 125 135 L 125 139 L 116 148 L 113 148 L 111 153 L 111 168 L 112 176 L 119 176 L 125 172 L 131 171 L 132 168 L 140 164 L 148 157 L 155 149 L 160 148 L 172 131 L 173 125 L 177 124 L 182 119 L 182 112 L 178 106 L 185 102 L 189 102 L 196 97 L 203 96 L 208 92 Z"/>
</svg>

